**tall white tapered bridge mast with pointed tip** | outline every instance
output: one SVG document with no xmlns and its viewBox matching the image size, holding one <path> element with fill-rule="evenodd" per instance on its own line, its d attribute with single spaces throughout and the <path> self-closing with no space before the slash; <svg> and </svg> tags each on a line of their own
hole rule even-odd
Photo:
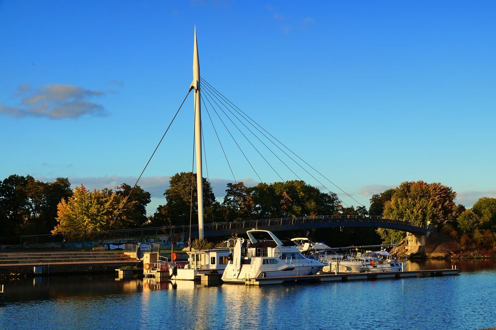
<svg viewBox="0 0 496 330">
<path fill-rule="evenodd" d="M 196 147 L 196 192 L 198 195 L 198 235 L 203 238 L 203 180 L 201 176 L 201 116 L 200 116 L 200 61 L 196 44 L 196 26 L 194 27 L 193 47 L 193 82 L 194 88 L 194 144 Z"/>
</svg>

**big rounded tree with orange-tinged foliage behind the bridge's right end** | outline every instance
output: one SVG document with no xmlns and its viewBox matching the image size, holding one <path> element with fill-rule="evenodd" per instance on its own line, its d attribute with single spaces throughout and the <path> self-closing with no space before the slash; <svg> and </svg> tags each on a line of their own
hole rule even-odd
<svg viewBox="0 0 496 330">
<path fill-rule="evenodd" d="M 455 197 L 451 187 L 440 183 L 403 182 L 384 203 L 384 216 L 443 225 L 455 220 Z"/>
</svg>

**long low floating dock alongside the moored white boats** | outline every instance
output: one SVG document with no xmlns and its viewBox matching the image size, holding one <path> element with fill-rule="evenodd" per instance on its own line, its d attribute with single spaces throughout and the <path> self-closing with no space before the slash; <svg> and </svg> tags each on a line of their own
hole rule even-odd
<svg viewBox="0 0 496 330">
<path fill-rule="evenodd" d="M 292 282 L 344 282 L 357 280 L 376 280 L 385 278 L 405 278 L 405 277 L 434 277 L 444 275 L 458 275 L 458 269 L 430 269 L 411 271 L 391 271 L 391 272 L 365 272 L 365 273 L 337 273 L 337 274 L 317 274 L 305 276 L 284 276 L 284 277 L 261 277 L 246 279 L 246 285 L 268 285 Z"/>
</svg>

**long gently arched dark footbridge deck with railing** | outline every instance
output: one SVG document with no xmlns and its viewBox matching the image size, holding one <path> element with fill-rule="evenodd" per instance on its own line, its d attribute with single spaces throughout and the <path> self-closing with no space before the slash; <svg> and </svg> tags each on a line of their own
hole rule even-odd
<svg viewBox="0 0 496 330">
<path fill-rule="evenodd" d="M 217 231 L 217 230 L 248 230 L 258 227 L 270 226 L 285 226 L 315 222 L 382 222 L 382 223 L 396 223 L 408 225 L 416 228 L 425 229 L 426 226 L 422 221 L 411 221 L 400 218 L 388 218 L 382 216 L 363 216 L 363 215 L 315 215 L 315 216 L 301 216 L 301 217 L 287 217 L 287 218 L 271 218 L 271 219 L 258 219 L 258 220 L 245 220 L 233 222 L 212 222 L 203 224 L 204 231 Z M 380 227 L 380 226 L 378 226 Z M 198 231 L 198 225 L 179 225 L 179 226 L 162 226 L 162 227 L 144 227 L 132 229 L 116 229 L 109 231 L 95 231 L 95 232 L 73 232 L 63 234 L 42 234 L 42 235 L 23 235 L 20 237 L 20 243 L 38 243 L 38 242 L 60 242 L 64 237 L 78 237 L 81 240 L 85 239 L 103 239 L 109 238 L 123 238 L 134 236 L 147 236 L 158 234 L 175 234 L 175 233 L 188 233 Z"/>
</svg>

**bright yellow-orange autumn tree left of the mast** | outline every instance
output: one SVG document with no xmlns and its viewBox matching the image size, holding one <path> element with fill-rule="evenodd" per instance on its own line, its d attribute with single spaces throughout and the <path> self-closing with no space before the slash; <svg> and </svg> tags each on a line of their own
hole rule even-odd
<svg viewBox="0 0 496 330">
<path fill-rule="evenodd" d="M 74 189 L 73 195 L 57 205 L 57 226 L 53 234 L 73 232 L 93 232 L 108 229 L 126 228 L 131 219 L 126 214 L 132 213 L 124 205 L 123 212 L 116 218 L 124 198 L 109 189 L 88 191 L 83 185 Z M 115 219 L 115 221 L 114 221 Z M 71 238 L 84 235 L 69 235 Z"/>
</svg>

